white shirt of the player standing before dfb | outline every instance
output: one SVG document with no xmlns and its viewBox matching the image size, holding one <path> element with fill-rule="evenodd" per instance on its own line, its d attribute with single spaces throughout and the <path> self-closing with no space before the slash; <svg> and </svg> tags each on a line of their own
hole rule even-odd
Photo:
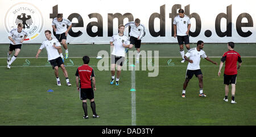
<svg viewBox="0 0 256 137">
<path fill-rule="evenodd" d="M 179 15 L 175 16 L 174 24 L 177 26 L 177 36 L 185 36 L 187 35 L 188 24 L 191 24 L 191 22 L 189 17 L 184 14 L 183 18 L 180 18 Z"/>
</svg>

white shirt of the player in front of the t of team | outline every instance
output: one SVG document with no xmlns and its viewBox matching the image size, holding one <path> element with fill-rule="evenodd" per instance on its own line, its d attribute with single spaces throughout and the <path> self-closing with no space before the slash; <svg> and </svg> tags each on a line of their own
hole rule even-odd
<svg viewBox="0 0 256 137">
<path fill-rule="evenodd" d="M 56 34 L 63 34 L 64 32 L 66 32 L 67 26 L 71 26 L 72 22 L 69 21 L 68 19 L 64 19 L 62 18 L 62 22 L 58 22 L 57 18 L 54 18 L 52 20 L 52 26 L 56 25 Z"/>
</svg>

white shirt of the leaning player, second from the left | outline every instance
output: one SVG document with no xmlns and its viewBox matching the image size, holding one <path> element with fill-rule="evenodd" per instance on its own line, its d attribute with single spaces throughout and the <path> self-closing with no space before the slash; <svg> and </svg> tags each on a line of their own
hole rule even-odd
<svg viewBox="0 0 256 137">
<path fill-rule="evenodd" d="M 60 57 L 59 52 L 56 48 L 53 47 L 53 43 L 56 43 L 57 46 L 61 46 L 59 41 L 56 38 L 52 38 L 52 40 L 44 40 L 39 49 L 46 48 L 48 54 L 48 60 L 57 59 Z"/>
</svg>

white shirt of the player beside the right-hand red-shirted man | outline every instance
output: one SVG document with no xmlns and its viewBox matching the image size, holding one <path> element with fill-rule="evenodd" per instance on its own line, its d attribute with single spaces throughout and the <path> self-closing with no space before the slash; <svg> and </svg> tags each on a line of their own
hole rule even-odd
<svg viewBox="0 0 256 137">
<path fill-rule="evenodd" d="M 203 59 L 207 58 L 207 55 L 205 55 L 205 52 L 201 49 L 200 51 L 197 51 L 196 48 L 190 49 L 185 56 L 189 57 L 190 60 L 193 60 L 193 63 L 188 63 L 188 70 L 197 70 L 200 69 L 200 60 L 201 57 Z"/>
</svg>

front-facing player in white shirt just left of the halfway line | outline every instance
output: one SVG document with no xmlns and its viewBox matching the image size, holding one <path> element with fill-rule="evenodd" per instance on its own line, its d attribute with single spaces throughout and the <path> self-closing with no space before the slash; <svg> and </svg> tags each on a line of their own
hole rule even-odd
<svg viewBox="0 0 256 137">
<path fill-rule="evenodd" d="M 119 85 L 119 78 L 121 75 L 121 69 L 123 65 L 123 61 L 125 60 L 125 48 L 129 48 L 130 41 L 129 38 L 123 34 L 125 31 L 125 26 L 120 24 L 118 26 L 119 33 L 113 35 L 110 39 L 110 47 L 113 47 L 113 51 L 111 53 L 111 81 L 110 84 Z M 117 78 L 115 79 L 115 64 L 117 64 Z"/>
</svg>

